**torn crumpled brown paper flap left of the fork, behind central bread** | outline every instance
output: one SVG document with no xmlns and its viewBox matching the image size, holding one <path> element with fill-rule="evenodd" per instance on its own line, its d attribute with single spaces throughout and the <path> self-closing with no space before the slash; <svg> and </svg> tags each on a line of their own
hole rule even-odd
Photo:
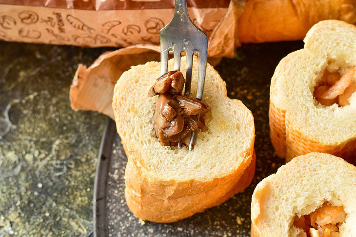
<svg viewBox="0 0 356 237">
<path fill-rule="evenodd" d="M 93 110 L 114 119 L 111 102 L 114 86 L 133 65 L 159 61 L 159 46 L 140 44 L 105 52 L 90 66 L 79 64 L 70 87 L 74 110 Z"/>
</svg>

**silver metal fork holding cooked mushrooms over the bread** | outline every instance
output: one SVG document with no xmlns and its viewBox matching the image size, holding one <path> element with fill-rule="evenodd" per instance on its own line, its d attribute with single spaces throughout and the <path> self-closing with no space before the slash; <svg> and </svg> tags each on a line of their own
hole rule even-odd
<svg viewBox="0 0 356 237">
<path fill-rule="evenodd" d="M 192 84 L 192 69 L 193 69 L 193 54 L 197 53 L 199 58 L 198 70 L 198 89 L 197 99 L 201 100 L 203 96 L 206 60 L 208 50 L 208 40 L 204 32 L 202 32 L 192 20 L 190 20 L 187 10 L 186 0 L 175 0 L 174 16 L 160 31 L 161 45 L 161 75 L 167 72 L 168 53 L 173 51 L 174 70 L 180 70 L 180 54 L 186 54 L 186 75 L 184 95 L 190 95 Z M 199 121 L 199 115 L 198 115 Z M 189 150 L 193 150 L 196 138 L 196 131 L 192 131 L 189 142 Z M 178 143 L 178 148 L 181 147 L 181 141 Z"/>
</svg>

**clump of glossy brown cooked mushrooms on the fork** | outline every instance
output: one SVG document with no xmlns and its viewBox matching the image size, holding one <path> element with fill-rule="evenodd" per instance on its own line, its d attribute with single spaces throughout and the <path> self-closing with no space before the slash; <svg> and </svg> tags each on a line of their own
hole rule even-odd
<svg viewBox="0 0 356 237">
<path fill-rule="evenodd" d="M 181 95 L 184 82 L 181 72 L 170 71 L 160 76 L 148 92 L 148 97 L 158 95 L 153 126 L 159 142 L 164 146 L 178 145 L 190 131 L 202 129 L 204 115 L 210 110 L 200 100 Z"/>
</svg>

